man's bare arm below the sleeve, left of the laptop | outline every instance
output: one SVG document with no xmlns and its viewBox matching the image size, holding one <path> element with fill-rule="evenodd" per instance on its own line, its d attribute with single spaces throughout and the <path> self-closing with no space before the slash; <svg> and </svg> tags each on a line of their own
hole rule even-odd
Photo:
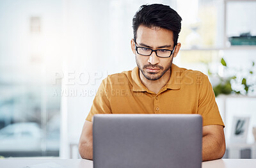
<svg viewBox="0 0 256 168">
<path fill-rule="evenodd" d="M 79 153 L 82 158 L 93 159 L 92 142 L 92 122 L 85 121 L 78 145 Z"/>
</svg>

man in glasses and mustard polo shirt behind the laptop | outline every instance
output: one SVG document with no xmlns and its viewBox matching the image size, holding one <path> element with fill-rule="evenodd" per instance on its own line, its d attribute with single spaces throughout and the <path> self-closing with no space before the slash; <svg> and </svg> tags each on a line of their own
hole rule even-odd
<svg viewBox="0 0 256 168">
<path fill-rule="evenodd" d="M 202 160 L 223 157 L 224 125 L 207 76 L 172 64 L 180 50 L 181 20 L 175 10 L 163 4 L 143 5 L 137 11 L 131 49 L 138 67 L 109 75 L 100 84 L 79 142 L 82 158 L 93 159 L 94 114 L 129 113 L 201 114 Z"/>
</svg>

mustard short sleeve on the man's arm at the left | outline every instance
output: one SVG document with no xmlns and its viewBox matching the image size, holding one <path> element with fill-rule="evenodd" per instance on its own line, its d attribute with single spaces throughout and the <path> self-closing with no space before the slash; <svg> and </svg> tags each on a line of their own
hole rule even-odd
<svg viewBox="0 0 256 168">
<path fill-rule="evenodd" d="M 102 81 L 100 87 L 93 100 L 92 108 L 86 118 L 87 121 L 92 121 L 95 114 L 111 114 L 109 104 L 108 91 L 106 91 L 106 79 Z"/>
</svg>

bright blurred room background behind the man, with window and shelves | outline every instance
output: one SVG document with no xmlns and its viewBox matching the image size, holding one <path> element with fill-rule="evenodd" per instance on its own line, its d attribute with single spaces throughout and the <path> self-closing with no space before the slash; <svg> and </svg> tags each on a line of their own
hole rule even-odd
<svg viewBox="0 0 256 168">
<path fill-rule="evenodd" d="M 182 17 L 174 63 L 209 76 L 225 158 L 256 158 L 253 0 L 0 0 L 0 157 L 79 158 L 99 84 L 136 66 L 132 17 L 152 3 Z"/>
</svg>

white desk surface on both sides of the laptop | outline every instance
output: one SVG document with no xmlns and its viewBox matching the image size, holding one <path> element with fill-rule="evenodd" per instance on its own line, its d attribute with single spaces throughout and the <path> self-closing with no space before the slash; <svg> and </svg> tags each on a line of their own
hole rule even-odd
<svg viewBox="0 0 256 168">
<path fill-rule="evenodd" d="M 255 168 L 256 159 L 219 159 L 203 162 L 202 168 Z M 85 159 L 0 159 L 1 168 L 93 168 L 92 160 Z"/>
</svg>

